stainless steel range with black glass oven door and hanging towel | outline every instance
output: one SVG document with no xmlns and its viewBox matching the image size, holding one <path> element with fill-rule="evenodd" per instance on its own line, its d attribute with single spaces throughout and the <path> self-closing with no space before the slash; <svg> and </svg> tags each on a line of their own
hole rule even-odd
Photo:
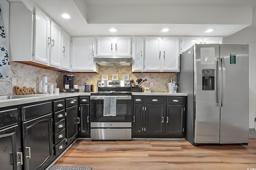
<svg viewBox="0 0 256 170">
<path fill-rule="evenodd" d="M 99 80 L 90 96 L 92 140 L 131 140 L 132 93 L 130 80 Z"/>
</svg>

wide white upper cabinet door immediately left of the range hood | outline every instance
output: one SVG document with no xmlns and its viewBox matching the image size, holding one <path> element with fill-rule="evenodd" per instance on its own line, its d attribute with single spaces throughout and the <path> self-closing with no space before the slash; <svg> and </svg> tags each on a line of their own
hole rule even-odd
<svg viewBox="0 0 256 170">
<path fill-rule="evenodd" d="M 72 37 L 71 71 L 99 72 L 94 63 L 94 37 Z"/>
</svg>

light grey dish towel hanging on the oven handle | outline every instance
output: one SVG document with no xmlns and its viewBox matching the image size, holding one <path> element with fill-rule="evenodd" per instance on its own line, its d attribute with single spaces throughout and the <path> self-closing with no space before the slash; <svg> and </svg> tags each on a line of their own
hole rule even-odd
<svg viewBox="0 0 256 170">
<path fill-rule="evenodd" d="M 104 96 L 103 116 L 116 116 L 116 96 Z"/>
</svg>

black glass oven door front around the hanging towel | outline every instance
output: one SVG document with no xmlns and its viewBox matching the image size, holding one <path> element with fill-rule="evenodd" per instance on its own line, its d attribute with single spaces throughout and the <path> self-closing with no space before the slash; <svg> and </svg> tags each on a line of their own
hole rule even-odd
<svg viewBox="0 0 256 170">
<path fill-rule="evenodd" d="M 132 120 L 132 100 L 116 100 L 116 116 L 103 116 L 103 99 L 90 101 L 91 122 L 131 122 Z"/>
</svg>

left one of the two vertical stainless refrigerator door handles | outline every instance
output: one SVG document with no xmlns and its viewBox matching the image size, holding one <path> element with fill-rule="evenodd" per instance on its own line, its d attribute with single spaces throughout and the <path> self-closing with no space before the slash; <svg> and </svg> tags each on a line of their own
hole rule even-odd
<svg viewBox="0 0 256 170">
<path fill-rule="evenodd" d="M 216 68 L 216 106 L 221 107 L 221 101 L 222 101 L 222 66 L 221 66 L 221 59 L 218 57 L 216 59 L 217 62 L 217 68 Z"/>
</svg>

